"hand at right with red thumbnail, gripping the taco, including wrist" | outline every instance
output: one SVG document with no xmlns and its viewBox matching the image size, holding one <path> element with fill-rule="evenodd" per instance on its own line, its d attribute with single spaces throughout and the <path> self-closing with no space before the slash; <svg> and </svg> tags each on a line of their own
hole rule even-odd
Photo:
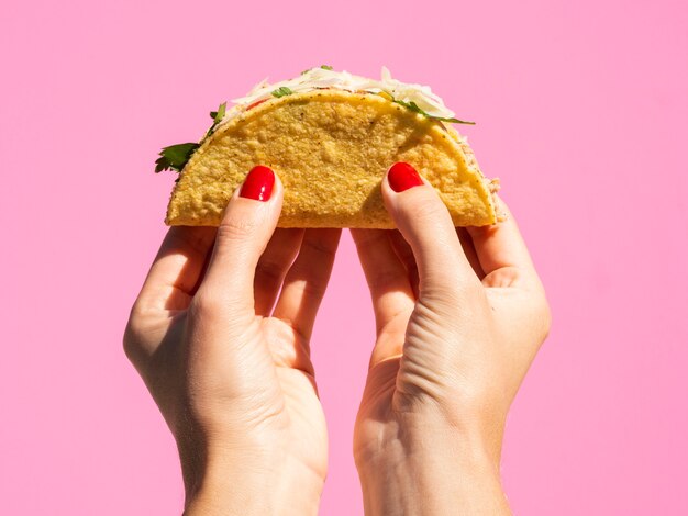
<svg viewBox="0 0 688 516">
<path fill-rule="evenodd" d="M 366 514 L 508 514 L 509 406 L 550 329 L 513 216 L 456 229 L 407 164 L 382 181 L 399 231 L 352 231 L 377 340 L 354 435 Z"/>
</svg>

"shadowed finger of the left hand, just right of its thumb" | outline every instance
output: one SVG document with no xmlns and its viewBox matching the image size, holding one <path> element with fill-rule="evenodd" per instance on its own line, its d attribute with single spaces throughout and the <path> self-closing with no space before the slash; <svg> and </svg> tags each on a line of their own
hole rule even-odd
<svg viewBox="0 0 688 516">
<path fill-rule="evenodd" d="M 299 253 L 303 229 L 277 228 L 258 260 L 253 281 L 256 315 L 268 316 L 287 271 Z"/>
</svg>

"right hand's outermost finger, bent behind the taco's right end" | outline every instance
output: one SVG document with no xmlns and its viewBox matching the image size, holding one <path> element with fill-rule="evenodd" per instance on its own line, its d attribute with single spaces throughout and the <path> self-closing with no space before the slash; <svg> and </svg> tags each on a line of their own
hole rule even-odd
<svg viewBox="0 0 688 516">
<path fill-rule="evenodd" d="M 486 280 L 495 282 L 514 278 L 525 281 L 539 281 L 525 243 L 521 237 L 513 215 L 508 206 L 497 198 L 507 220 L 491 226 L 467 227 L 473 239 L 480 266 L 487 274 Z"/>
</svg>

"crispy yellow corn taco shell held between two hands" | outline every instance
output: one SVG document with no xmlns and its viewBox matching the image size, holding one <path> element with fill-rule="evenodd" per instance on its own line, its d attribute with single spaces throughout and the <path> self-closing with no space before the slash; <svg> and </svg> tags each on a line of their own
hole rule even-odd
<svg viewBox="0 0 688 516">
<path fill-rule="evenodd" d="M 279 227 L 392 228 L 380 181 L 396 161 L 437 189 L 456 226 L 497 222 L 492 191 L 465 141 L 375 93 L 319 89 L 273 98 L 220 125 L 180 172 L 166 224 L 218 226 L 255 165 L 285 186 Z"/>
</svg>

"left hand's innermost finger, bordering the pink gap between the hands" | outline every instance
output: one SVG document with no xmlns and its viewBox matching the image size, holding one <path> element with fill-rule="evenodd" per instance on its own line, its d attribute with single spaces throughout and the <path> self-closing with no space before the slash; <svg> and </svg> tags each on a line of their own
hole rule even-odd
<svg viewBox="0 0 688 516">
<path fill-rule="evenodd" d="M 341 234 L 341 229 L 306 229 L 275 306 L 273 315 L 289 323 L 304 346 L 330 280 Z"/>
</svg>

